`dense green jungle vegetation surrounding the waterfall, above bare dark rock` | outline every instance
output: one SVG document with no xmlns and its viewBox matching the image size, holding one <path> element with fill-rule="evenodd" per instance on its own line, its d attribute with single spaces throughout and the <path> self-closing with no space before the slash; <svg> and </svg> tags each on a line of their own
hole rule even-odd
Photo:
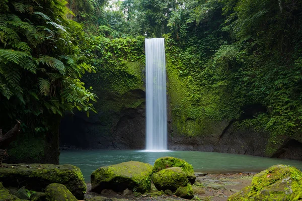
<svg viewBox="0 0 302 201">
<path fill-rule="evenodd" d="M 125 66 L 144 62 L 145 37 L 164 37 L 180 133 L 261 105 L 237 126 L 269 132 L 271 145 L 301 140 L 301 26 L 301 0 L 0 0 L 0 127 L 20 119 L 40 135 L 65 111 L 89 115 L 97 97 L 87 72 L 108 87 L 141 87 Z"/>
</svg>

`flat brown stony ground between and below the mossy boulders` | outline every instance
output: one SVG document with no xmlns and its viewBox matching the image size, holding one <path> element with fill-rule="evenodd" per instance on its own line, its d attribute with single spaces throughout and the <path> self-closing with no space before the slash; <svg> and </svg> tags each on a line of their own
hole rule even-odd
<svg viewBox="0 0 302 201">
<path fill-rule="evenodd" d="M 196 172 L 196 181 L 193 184 L 194 198 L 193 200 L 213 200 L 224 201 L 232 194 L 239 192 L 242 188 L 248 186 L 252 177 L 256 173 L 236 173 L 236 174 L 208 174 L 200 176 Z M 98 201 L 125 201 L 125 200 L 187 200 L 175 195 L 153 195 L 145 193 L 139 196 L 133 194 L 127 195 L 122 192 L 112 190 L 104 190 L 101 194 L 91 191 L 91 183 L 87 184 L 86 199 Z M 94 199 L 94 197 L 98 197 Z"/>
</svg>

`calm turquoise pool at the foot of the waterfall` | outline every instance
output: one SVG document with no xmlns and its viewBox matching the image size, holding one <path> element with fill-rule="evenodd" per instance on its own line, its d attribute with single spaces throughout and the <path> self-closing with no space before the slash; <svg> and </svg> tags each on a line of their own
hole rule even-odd
<svg viewBox="0 0 302 201">
<path fill-rule="evenodd" d="M 238 173 L 259 172 L 272 165 L 292 165 L 302 170 L 302 161 L 264 158 L 249 155 L 198 151 L 142 152 L 134 150 L 74 150 L 61 151 L 60 164 L 80 167 L 85 181 L 90 182 L 91 173 L 101 166 L 130 160 L 154 164 L 157 158 L 173 156 L 193 165 L 195 172 Z"/>
</svg>

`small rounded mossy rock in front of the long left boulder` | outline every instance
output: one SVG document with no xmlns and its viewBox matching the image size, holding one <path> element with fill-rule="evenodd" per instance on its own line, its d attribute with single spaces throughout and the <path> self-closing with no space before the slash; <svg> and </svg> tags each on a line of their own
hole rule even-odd
<svg viewBox="0 0 302 201">
<path fill-rule="evenodd" d="M 46 201 L 78 201 L 73 194 L 60 183 L 51 183 L 45 188 Z"/>
</svg>

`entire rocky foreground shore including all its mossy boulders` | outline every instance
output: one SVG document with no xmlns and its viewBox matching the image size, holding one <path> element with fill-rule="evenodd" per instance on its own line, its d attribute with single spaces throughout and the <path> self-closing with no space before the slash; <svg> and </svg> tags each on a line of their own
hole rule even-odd
<svg viewBox="0 0 302 201">
<path fill-rule="evenodd" d="M 281 164 L 257 174 L 208 175 L 167 156 L 154 165 L 128 161 L 99 167 L 91 183 L 68 164 L 3 164 L 0 175 L 0 201 L 302 199 L 302 172 Z"/>
</svg>

